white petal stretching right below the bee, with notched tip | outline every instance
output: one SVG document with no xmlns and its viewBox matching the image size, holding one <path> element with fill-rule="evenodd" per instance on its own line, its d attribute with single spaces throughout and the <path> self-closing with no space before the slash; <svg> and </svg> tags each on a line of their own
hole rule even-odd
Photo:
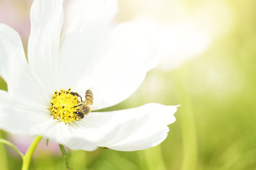
<svg viewBox="0 0 256 170">
<path fill-rule="evenodd" d="M 161 143 L 175 121 L 177 106 L 145 104 L 129 110 L 93 112 L 70 125 L 77 138 L 114 150 L 143 150 Z"/>
</svg>

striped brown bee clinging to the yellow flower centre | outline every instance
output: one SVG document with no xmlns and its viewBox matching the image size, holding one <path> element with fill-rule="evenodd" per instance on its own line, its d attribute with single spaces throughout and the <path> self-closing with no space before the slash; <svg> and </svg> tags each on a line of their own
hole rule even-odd
<svg viewBox="0 0 256 170">
<path fill-rule="evenodd" d="M 77 111 L 74 112 L 74 113 L 76 113 L 77 117 L 79 117 L 80 119 L 83 119 L 84 115 L 88 115 L 88 113 L 90 113 L 90 111 L 91 111 L 90 106 L 93 104 L 92 90 L 90 90 L 90 89 L 86 90 L 85 97 L 84 97 L 85 98 L 84 102 L 83 102 L 82 97 L 79 94 L 77 94 L 75 92 L 71 92 L 71 94 L 81 98 L 82 103 L 74 106 L 74 108 L 79 107 L 79 106 L 81 106 L 81 107 L 79 109 L 77 109 Z"/>
</svg>

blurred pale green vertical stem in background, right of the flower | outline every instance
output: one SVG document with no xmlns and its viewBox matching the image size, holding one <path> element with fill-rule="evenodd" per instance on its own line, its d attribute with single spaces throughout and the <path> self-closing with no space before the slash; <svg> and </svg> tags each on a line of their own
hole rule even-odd
<svg viewBox="0 0 256 170">
<path fill-rule="evenodd" d="M 196 169 L 197 162 L 197 142 L 196 142 L 196 126 L 195 126 L 195 115 L 193 113 L 193 104 L 191 101 L 191 94 L 189 93 L 189 80 L 188 70 L 186 64 L 180 70 L 177 78 L 179 82 L 177 90 L 179 90 L 179 98 L 182 101 L 182 107 L 180 111 L 180 125 L 182 132 L 182 146 L 183 146 L 183 159 L 182 159 L 182 170 L 194 170 Z"/>
</svg>

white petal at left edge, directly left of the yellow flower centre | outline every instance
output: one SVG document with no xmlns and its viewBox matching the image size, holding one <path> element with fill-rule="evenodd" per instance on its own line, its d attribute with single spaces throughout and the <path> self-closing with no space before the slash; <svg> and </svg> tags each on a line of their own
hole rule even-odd
<svg viewBox="0 0 256 170">
<path fill-rule="evenodd" d="M 47 110 L 28 109 L 27 107 L 24 109 L 22 104 L 11 99 L 8 92 L 0 90 L 0 129 L 33 135 L 33 127 L 47 119 L 49 119 Z"/>
</svg>

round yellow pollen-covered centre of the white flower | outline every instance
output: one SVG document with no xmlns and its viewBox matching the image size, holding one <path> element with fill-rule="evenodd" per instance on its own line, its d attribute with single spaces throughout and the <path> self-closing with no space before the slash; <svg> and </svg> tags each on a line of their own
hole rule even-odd
<svg viewBox="0 0 256 170">
<path fill-rule="evenodd" d="M 54 119 L 59 122 L 64 122 L 65 124 L 80 120 L 75 113 L 79 107 L 74 108 L 74 106 L 81 103 L 81 100 L 74 94 L 77 93 L 71 92 L 71 88 L 68 90 L 56 90 L 52 94 L 49 110 Z"/>
</svg>

